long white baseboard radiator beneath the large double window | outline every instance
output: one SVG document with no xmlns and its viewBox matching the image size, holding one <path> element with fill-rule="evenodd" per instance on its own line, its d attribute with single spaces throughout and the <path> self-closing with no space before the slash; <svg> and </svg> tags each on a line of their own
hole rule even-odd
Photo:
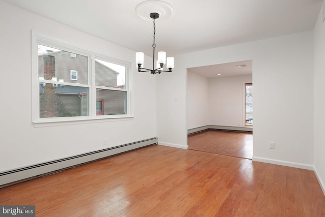
<svg viewBox="0 0 325 217">
<path fill-rule="evenodd" d="M 0 188 L 20 181 L 28 180 L 31 178 L 44 176 L 47 174 L 55 173 L 64 169 L 76 167 L 85 163 L 100 160 L 107 157 L 112 157 L 116 154 L 124 153 L 127 151 L 135 150 L 145 146 L 157 144 L 158 139 L 151 138 L 138 142 L 119 145 L 116 147 L 91 151 L 68 158 L 57 159 L 54 161 L 44 162 L 40 164 L 30 165 L 14 170 L 9 170 L 0 173 Z"/>
</svg>

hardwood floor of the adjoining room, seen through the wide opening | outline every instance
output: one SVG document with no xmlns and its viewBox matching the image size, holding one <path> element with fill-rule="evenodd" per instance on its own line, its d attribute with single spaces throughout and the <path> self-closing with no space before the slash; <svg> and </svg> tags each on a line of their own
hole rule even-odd
<svg viewBox="0 0 325 217">
<path fill-rule="evenodd" d="M 187 137 L 191 150 L 218 153 L 232 157 L 252 159 L 253 134 L 208 130 Z"/>
</svg>

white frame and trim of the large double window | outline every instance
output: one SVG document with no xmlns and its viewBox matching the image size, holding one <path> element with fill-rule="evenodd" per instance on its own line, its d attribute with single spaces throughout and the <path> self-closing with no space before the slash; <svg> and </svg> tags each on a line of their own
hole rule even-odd
<svg viewBox="0 0 325 217">
<path fill-rule="evenodd" d="M 44 36 L 34 31 L 31 32 L 31 52 L 32 52 L 32 122 L 35 126 L 45 126 L 47 124 L 55 123 L 76 123 L 79 121 L 80 123 L 84 121 L 105 121 L 105 120 L 116 120 L 117 118 L 131 118 L 133 117 L 133 111 L 131 106 L 131 90 L 130 90 L 130 80 L 131 76 L 129 75 L 129 69 L 131 68 L 131 63 L 127 63 L 126 61 L 117 60 L 105 55 L 101 55 L 98 53 L 93 53 L 91 51 L 83 50 L 82 48 L 77 48 L 71 46 L 71 43 L 62 42 L 57 39 L 53 39 L 48 36 Z M 73 83 L 74 86 L 82 86 L 89 88 L 89 115 L 88 116 L 74 116 L 74 117 L 51 117 L 51 118 L 40 118 L 40 90 L 39 84 L 43 83 L 44 80 L 39 78 L 38 72 L 38 44 L 42 44 L 45 46 L 61 49 L 64 51 L 84 55 L 88 57 L 88 83 L 87 84 L 79 84 Z M 95 59 L 101 59 L 104 61 L 109 61 L 113 64 L 118 64 L 125 67 L 125 89 L 121 88 L 111 88 L 107 87 L 106 89 L 112 89 L 117 91 L 126 92 L 126 102 L 125 102 L 125 114 L 119 115 L 96 115 L 96 88 L 98 86 L 95 85 Z M 52 84 L 63 84 L 63 85 L 72 85 L 70 82 L 58 82 L 53 80 L 46 80 L 46 83 Z M 101 87 L 102 88 L 102 87 Z"/>
</svg>

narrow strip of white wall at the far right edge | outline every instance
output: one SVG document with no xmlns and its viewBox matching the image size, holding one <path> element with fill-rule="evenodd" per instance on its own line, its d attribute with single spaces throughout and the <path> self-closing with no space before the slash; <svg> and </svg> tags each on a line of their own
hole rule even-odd
<svg viewBox="0 0 325 217">
<path fill-rule="evenodd" d="M 324 7 L 324 4 L 323 4 Z M 324 8 L 322 8 L 324 10 Z M 320 11 L 314 28 L 314 145 L 315 171 L 325 194 L 325 22 Z"/>
</svg>

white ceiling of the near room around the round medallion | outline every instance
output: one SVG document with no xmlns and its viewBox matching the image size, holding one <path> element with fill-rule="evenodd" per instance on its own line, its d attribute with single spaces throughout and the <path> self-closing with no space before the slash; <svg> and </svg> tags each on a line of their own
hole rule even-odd
<svg viewBox="0 0 325 217">
<path fill-rule="evenodd" d="M 2 0 L 152 56 L 153 23 L 136 14 L 142 0 Z M 167 56 L 313 29 L 322 0 L 165 0 L 156 51 Z M 149 16 L 149 15 L 148 15 Z M 222 74 L 222 73 L 220 73 Z"/>
</svg>

